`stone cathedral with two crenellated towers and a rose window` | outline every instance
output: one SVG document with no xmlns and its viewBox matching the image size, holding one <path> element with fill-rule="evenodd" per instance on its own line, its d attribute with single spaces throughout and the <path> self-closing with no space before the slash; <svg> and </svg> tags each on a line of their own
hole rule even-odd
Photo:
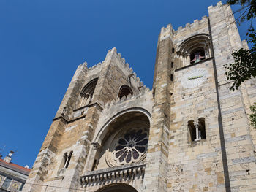
<svg viewBox="0 0 256 192">
<path fill-rule="evenodd" d="M 230 6 L 159 32 L 153 88 L 117 53 L 78 66 L 25 192 L 256 191 L 256 80 L 230 91 Z"/>
</svg>

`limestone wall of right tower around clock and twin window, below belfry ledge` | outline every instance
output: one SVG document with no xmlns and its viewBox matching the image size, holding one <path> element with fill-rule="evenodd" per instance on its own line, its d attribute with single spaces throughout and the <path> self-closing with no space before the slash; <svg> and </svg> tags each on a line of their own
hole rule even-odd
<svg viewBox="0 0 256 192">
<path fill-rule="evenodd" d="M 193 71 L 206 79 L 188 84 Z M 224 191 L 213 61 L 178 69 L 174 75 L 167 191 Z M 206 139 L 189 141 L 188 121 L 198 118 L 205 118 Z"/>
</svg>

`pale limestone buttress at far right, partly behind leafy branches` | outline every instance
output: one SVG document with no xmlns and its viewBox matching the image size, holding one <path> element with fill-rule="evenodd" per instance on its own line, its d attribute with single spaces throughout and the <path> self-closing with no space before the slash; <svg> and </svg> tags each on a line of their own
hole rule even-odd
<svg viewBox="0 0 256 192">
<path fill-rule="evenodd" d="M 225 150 L 222 152 L 227 154 L 228 174 L 225 173 L 225 182 L 230 185 L 231 191 L 255 191 L 255 146 L 245 107 L 249 101 L 246 99 L 246 92 L 250 91 L 241 91 L 244 85 L 238 91 L 230 91 L 231 82 L 225 77 L 225 64 L 233 62 L 231 53 L 243 45 L 229 6 L 219 2 L 215 7 L 208 7 L 208 12 L 218 82 L 219 112 L 222 119 L 220 134 L 225 138 L 222 143 Z"/>
</svg>

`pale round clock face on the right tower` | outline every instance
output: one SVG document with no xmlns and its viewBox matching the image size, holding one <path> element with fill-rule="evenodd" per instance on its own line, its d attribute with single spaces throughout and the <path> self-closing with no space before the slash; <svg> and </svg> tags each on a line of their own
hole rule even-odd
<svg viewBox="0 0 256 192">
<path fill-rule="evenodd" d="M 207 80 L 208 72 L 206 69 L 197 68 L 184 74 L 181 78 L 181 85 L 184 88 L 195 88 Z"/>
</svg>

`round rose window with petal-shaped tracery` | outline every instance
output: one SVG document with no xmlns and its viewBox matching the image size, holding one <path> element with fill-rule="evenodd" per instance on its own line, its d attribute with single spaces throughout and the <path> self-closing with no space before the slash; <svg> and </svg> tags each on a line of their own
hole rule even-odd
<svg viewBox="0 0 256 192">
<path fill-rule="evenodd" d="M 137 127 L 138 126 L 138 127 Z M 146 157 L 148 146 L 148 126 L 136 124 L 133 128 L 121 130 L 116 134 L 106 156 L 110 166 L 120 166 L 142 161 Z"/>
</svg>

